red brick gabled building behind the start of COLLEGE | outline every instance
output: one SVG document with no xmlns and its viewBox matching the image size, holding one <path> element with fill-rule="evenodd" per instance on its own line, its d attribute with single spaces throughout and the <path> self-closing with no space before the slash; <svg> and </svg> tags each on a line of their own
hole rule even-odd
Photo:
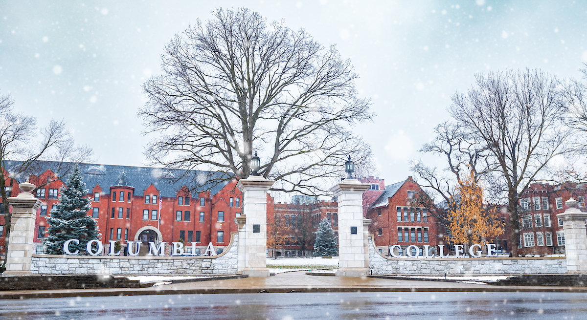
<svg viewBox="0 0 587 320">
<path fill-rule="evenodd" d="M 377 180 L 377 183 L 383 183 L 382 179 Z M 360 181 L 370 183 L 373 179 L 362 178 Z M 373 191 L 377 190 L 367 190 Z M 394 244 L 401 246 L 404 251 L 408 246 L 418 246 L 420 253 L 428 245 L 430 254 L 436 252 L 439 240 L 437 224 L 425 207 L 414 204 L 414 196 L 419 192 L 423 190 L 409 176 L 404 181 L 385 186 L 383 192 L 369 206 L 366 218 L 373 220 L 369 232 L 374 234 L 373 240 L 379 252 L 389 254 L 389 247 Z"/>
</svg>

